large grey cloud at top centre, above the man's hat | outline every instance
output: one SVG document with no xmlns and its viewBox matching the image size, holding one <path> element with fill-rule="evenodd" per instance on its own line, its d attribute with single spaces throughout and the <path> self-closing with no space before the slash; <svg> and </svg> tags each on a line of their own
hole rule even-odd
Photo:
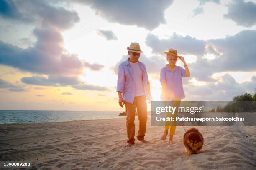
<svg viewBox="0 0 256 170">
<path fill-rule="evenodd" d="M 153 30 L 160 24 L 166 23 L 164 11 L 173 0 L 75 0 L 75 2 L 88 5 L 96 15 L 108 22 L 137 25 Z"/>
</svg>

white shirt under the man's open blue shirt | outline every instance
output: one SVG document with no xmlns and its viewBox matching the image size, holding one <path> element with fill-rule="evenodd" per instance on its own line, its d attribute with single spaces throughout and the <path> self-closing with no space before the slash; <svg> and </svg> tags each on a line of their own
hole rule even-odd
<svg viewBox="0 0 256 170">
<path fill-rule="evenodd" d="M 135 96 L 145 95 L 143 80 L 142 80 L 143 70 L 138 65 L 138 62 L 135 62 L 135 63 L 129 62 L 129 64 L 132 67 L 132 77 L 133 77 L 133 82 L 135 84 Z"/>
</svg>

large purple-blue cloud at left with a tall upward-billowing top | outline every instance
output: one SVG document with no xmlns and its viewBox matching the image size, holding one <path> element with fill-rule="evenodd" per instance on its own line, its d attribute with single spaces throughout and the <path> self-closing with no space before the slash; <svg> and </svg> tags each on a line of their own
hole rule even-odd
<svg viewBox="0 0 256 170">
<path fill-rule="evenodd" d="M 40 74 L 81 74 L 83 62 L 66 53 L 58 30 L 36 28 L 34 47 L 22 49 L 0 41 L 0 64 Z"/>
</svg>

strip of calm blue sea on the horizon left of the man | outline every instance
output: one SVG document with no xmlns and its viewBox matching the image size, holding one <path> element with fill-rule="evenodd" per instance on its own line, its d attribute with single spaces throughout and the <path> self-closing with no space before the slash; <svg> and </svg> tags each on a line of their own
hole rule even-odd
<svg viewBox="0 0 256 170">
<path fill-rule="evenodd" d="M 0 124 L 123 118 L 117 111 L 0 110 Z"/>
</svg>

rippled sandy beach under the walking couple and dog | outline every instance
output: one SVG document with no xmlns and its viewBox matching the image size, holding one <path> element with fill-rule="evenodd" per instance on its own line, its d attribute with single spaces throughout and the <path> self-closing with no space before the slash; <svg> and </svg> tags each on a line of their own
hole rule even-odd
<svg viewBox="0 0 256 170">
<path fill-rule="evenodd" d="M 182 126 L 174 135 L 176 143 L 169 144 L 160 140 L 164 127 L 151 126 L 150 116 L 145 137 L 149 143 L 136 140 L 131 148 L 125 147 L 125 117 L 0 125 L 0 160 L 29 161 L 30 169 L 41 170 L 256 169 L 256 126 L 197 128 L 205 139 L 203 153 L 187 156 Z"/>
</svg>

